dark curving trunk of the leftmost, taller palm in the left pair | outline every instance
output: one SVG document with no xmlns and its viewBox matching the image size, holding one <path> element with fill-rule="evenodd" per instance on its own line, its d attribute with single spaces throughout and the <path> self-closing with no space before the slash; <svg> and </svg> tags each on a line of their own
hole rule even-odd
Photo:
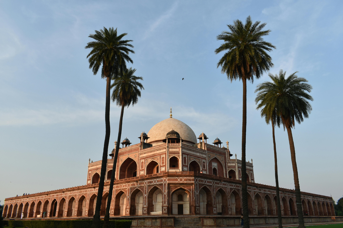
<svg viewBox="0 0 343 228">
<path fill-rule="evenodd" d="M 110 107 L 110 90 L 111 90 L 111 77 L 106 77 L 106 108 L 105 108 L 105 125 L 106 125 L 106 134 L 105 134 L 105 142 L 104 142 L 104 151 L 103 151 L 103 159 L 101 162 L 101 172 L 100 172 L 100 180 L 99 180 L 99 187 L 98 187 L 98 196 L 96 198 L 96 206 L 95 206 L 95 213 L 93 216 L 93 223 L 92 228 L 100 228 L 100 208 L 101 208 L 101 200 L 104 192 L 104 182 L 105 182 L 105 175 L 106 175 L 106 166 L 107 166 L 107 153 L 108 153 L 108 143 L 109 143 L 109 136 L 110 136 L 110 123 L 109 123 L 109 107 Z"/>
</svg>

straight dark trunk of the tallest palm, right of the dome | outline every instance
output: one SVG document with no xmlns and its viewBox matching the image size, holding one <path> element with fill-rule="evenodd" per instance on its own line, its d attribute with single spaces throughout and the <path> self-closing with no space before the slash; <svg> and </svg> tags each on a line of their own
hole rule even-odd
<svg viewBox="0 0 343 228">
<path fill-rule="evenodd" d="M 243 78 L 243 124 L 242 124 L 242 201 L 244 227 L 249 228 L 247 167 L 245 163 L 245 144 L 247 134 L 247 79 Z"/>
</svg>

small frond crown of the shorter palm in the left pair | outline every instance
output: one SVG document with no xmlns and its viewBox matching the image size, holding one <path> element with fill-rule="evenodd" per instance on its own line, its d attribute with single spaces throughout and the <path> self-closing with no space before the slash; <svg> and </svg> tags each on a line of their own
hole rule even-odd
<svg viewBox="0 0 343 228">
<path fill-rule="evenodd" d="M 138 102 L 138 97 L 141 96 L 141 91 L 144 90 L 142 83 L 137 80 L 143 80 L 142 77 L 134 76 L 136 69 L 126 69 L 122 75 L 116 77 L 111 85 L 112 101 L 118 106 L 129 107 Z"/>
</svg>

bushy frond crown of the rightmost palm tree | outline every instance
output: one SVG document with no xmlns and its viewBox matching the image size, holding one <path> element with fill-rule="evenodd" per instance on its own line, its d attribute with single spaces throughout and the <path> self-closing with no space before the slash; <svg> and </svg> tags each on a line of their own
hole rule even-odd
<svg viewBox="0 0 343 228">
<path fill-rule="evenodd" d="M 287 78 L 285 78 L 286 71 L 283 72 L 283 70 L 280 70 L 279 75 L 269 73 L 268 76 L 272 82 L 263 82 L 255 90 L 258 92 L 255 101 L 261 101 L 258 108 L 264 106 L 266 113 L 271 113 L 273 109 L 276 109 L 276 123 L 280 125 L 281 121 L 284 128 L 293 128 L 295 122 L 300 124 L 312 111 L 309 100 L 313 101 L 313 98 L 307 93 L 311 92 L 312 86 L 305 78 L 298 77 L 296 73 L 294 72 Z M 262 111 L 264 112 L 263 109 L 261 115 Z"/>
</svg>

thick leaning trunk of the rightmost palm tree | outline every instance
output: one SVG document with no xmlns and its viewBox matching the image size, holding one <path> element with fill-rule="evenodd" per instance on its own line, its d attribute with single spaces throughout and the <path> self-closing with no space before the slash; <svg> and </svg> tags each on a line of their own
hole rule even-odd
<svg viewBox="0 0 343 228">
<path fill-rule="evenodd" d="M 288 140 L 289 140 L 289 148 L 291 149 L 291 159 L 292 159 L 292 167 L 293 167 L 293 176 L 294 176 L 294 187 L 295 187 L 295 197 L 296 197 L 296 204 L 297 204 L 297 212 L 299 218 L 299 228 L 304 228 L 304 215 L 303 215 L 303 207 L 301 205 L 301 195 L 300 195 L 300 185 L 299 185 L 299 178 L 298 178 L 298 168 L 297 168 L 297 161 L 295 159 L 295 148 L 293 142 L 293 135 L 290 126 L 287 126 L 287 133 L 288 133 Z"/>
</svg>

